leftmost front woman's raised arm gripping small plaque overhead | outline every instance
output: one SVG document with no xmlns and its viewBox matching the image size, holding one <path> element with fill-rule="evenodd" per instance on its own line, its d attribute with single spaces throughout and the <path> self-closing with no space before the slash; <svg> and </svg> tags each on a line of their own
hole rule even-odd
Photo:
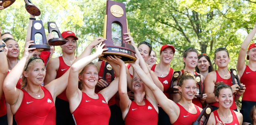
<svg viewBox="0 0 256 125">
<path fill-rule="evenodd" d="M 4 79 L 4 95 L 7 103 L 14 105 L 19 97 L 19 93 L 22 93 L 20 89 L 16 88 L 16 84 L 20 79 L 21 74 L 23 73 L 24 66 L 27 60 L 35 53 L 38 52 L 35 48 L 29 48 L 30 45 L 34 45 L 33 41 L 25 43 L 24 54 L 21 60 L 13 67 L 10 73 Z M 32 52 L 29 52 L 33 50 Z M 23 96 L 23 95 L 22 95 Z"/>
</svg>

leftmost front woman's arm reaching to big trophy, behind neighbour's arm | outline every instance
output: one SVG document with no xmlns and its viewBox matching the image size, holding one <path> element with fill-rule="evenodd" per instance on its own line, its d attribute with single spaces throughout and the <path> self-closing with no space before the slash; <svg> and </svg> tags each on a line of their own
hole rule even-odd
<svg viewBox="0 0 256 125">
<path fill-rule="evenodd" d="M 101 43 L 102 41 L 104 41 L 104 38 L 96 38 L 95 40 L 93 40 L 93 42 L 91 42 L 83 51 L 83 53 L 78 56 L 73 64 L 75 62 L 77 62 L 78 60 L 80 60 L 81 58 L 84 58 L 86 56 L 89 56 L 91 54 L 91 50 L 92 47 L 95 47 L 96 45 L 98 45 L 99 43 Z M 91 48 L 90 48 L 91 47 Z M 105 50 L 105 49 L 104 49 Z M 94 58 L 95 59 L 95 58 Z M 48 85 L 45 85 L 45 87 L 50 91 L 50 93 L 53 95 L 53 98 L 55 99 L 55 97 L 57 97 L 58 95 L 60 95 L 60 93 L 62 93 L 68 85 L 68 76 L 69 76 L 69 71 L 70 69 L 68 69 L 68 71 L 66 71 L 66 73 L 64 73 L 64 75 L 62 75 L 60 78 L 55 79 L 53 81 L 51 81 Z"/>
</svg>

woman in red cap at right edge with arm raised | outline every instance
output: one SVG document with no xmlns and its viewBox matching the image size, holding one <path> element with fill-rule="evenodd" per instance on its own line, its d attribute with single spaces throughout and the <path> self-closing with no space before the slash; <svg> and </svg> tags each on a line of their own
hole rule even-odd
<svg viewBox="0 0 256 125">
<path fill-rule="evenodd" d="M 255 34 L 256 26 L 254 26 L 254 28 L 251 30 L 251 32 L 242 43 L 236 65 L 238 75 L 241 76 L 240 82 L 246 85 L 247 88 L 242 98 L 241 108 L 241 113 L 244 116 L 245 124 L 251 123 L 251 120 L 249 118 L 250 109 L 253 105 L 256 105 L 256 91 L 254 90 L 254 88 L 256 87 L 256 81 L 254 80 L 256 75 L 256 44 L 250 44 Z M 247 60 L 249 60 L 248 65 L 246 65 L 245 63 L 245 57 Z"/>
</svg>

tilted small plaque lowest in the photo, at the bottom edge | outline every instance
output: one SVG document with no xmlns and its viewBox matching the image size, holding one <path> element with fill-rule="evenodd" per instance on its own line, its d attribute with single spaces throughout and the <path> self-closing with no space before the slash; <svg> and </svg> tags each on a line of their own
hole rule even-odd
<svg viewBox="0 0 256 125">
<path fill-rule="evenodd" d="M 192 125 L 206 125 L 212 110 L 213 108 L 209 104 L 206 104 L 205 108 L 202 110 L 196 121 L 192 123 Z"/>
</svg>

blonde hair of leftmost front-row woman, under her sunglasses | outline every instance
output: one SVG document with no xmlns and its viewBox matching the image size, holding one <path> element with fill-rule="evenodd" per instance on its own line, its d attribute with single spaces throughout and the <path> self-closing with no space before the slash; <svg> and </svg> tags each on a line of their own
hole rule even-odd
<svg viewBox="0 0 256 125">
<path fill-rule="evenodd" d="M 36 58 L 36 59 L 32 60 L 31 62 L 29 62 L 29 65 L 28 65 L 28 62 L 26 62 L 26 65 L 25 65 L 23 71 L 29 72 L 31 67 L 33 67 L 33 65 L 36 62 L 42 62 L 43 63 L 43 60 L 40 59 L 40 58 Z M 26 86 L 27 86 L 27 77 L 25 77 L 24 74 L 22 73 L 21 89 L 25 88 Z"/>
</svg>

